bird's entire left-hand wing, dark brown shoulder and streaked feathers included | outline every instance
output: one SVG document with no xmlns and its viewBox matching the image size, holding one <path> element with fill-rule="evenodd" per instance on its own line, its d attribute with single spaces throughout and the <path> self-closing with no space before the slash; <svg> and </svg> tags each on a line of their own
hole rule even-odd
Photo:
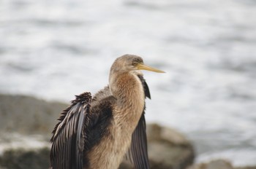
<svg viewBox="0 0 256 169">
<path fill-rule="evenodd" d="M 108 135 L 108 126 L 113 117 L 112 103 L 116 101 L 110 96 L 108 87 L 99 93 L 105 95 L 93 99 L 90 93 L 76 95 L 72 105 L 61 113 L 50 139 L 53 142 L 50 151 L 53 169 L 89 167 L 86 152 L 99 144 L 104 135 Z"/>
</svg>

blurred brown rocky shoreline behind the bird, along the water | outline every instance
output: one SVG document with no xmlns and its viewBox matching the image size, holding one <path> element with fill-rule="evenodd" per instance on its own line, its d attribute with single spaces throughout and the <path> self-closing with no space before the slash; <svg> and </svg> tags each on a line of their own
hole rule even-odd
<svg viewBox="0 0 256 169">
<path fill-rule="evenodd" d="M 67 106 L 31 96 L 1 94 L 0 169 L 48 168 L 50 133 L 59 113 Z M 151 124 L 147 125 L 147 133 L 152 169 L 234 169 L 225 160 L 193 165 L 192 143 L 176 130 Z M 120 168 L 132 168 L 132 165 L 124 160 Z"/>
</svg>

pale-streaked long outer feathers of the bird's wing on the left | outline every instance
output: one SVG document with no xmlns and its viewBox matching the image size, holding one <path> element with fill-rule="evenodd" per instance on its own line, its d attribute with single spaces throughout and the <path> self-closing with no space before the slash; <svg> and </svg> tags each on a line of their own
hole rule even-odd
<svg viewBox="0 0 256 169">
<path fill-rule="evenodd" d="M 84 129 L 90 119 L 91 93 L 77 95 L 59 117 L 50 141 L 50 166 L 53 169 L 83 169 Z"/>
</svg>

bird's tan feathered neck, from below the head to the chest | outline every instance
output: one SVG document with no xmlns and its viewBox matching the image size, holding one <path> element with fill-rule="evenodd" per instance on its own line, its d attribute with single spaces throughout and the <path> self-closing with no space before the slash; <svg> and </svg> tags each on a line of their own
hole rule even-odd
<svg viewBox="0 0 256 169">
<path fill-rule="evenodd" d="M 136 74 L 131 72 L 110 74 L 110 91 L 117 100 L 121 122 L 137 125 L 144 109 L 145 94 L 143 85 Z"/>
</svg>

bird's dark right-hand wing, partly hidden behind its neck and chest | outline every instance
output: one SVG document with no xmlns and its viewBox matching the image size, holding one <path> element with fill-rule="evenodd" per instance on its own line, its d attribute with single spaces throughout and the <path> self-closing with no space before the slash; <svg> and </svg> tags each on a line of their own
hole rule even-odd
<svg viewBox="0 0 256 169">
<path fill-rule="evenodd" d="M 143 84 L 145 97 L 151 98 L 148 84 L 146 84 L 143 76 L 138 76 Z M 132 142 L 129 149 L 129 158 L 135 165 L 135 168 L 149 169 L 148 161 L 148 145 L 146 138 L 146 121 L 145 121 L 145 109 L 140 117 L 135 131 L 132 133 Z"/>
</svg>

